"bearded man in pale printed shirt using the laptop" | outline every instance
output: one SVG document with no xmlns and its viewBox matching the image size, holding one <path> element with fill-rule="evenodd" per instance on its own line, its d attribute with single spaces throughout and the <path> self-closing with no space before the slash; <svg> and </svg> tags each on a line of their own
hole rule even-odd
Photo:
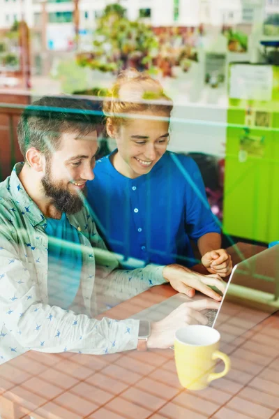
<svg viewBox="0 0 279 419">
<path fill-rule="evenodd" d="M 103 354 L 167 348 L 177 328 L 206 324 L 199 311 L 217 309 L 218 302 L 185 303 L 152 324 L 93 317 L 97 259 L 101 295 L 121 289 L 132 295 L 167 281 L 192 295 L 193 288 L 217 301 L 220 295 L 183 267 L 124 271 L 107 252 L 83 194 L 98 149 L 90 103 L 41 98 L 24 110 L 17 136 L 24 162 L 0 184 L 0 364 L 29 349 Z M 214 281 L 223 291 L 223 282 Z"/>
</svg>

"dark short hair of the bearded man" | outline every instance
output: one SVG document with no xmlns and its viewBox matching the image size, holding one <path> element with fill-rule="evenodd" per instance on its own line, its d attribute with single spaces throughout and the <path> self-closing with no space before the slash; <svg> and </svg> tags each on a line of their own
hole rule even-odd
<svg viewBox="0 0 279 419">
<path fill-rule="evenodd" d="M 25 108 L 17 126 L 20 151 L 38 149 L 45 156 L 59 149 L 62 133 L 78 136 L 96 131 L 100 116 L 94 115 L 89 101 L 68 97 L 45 96 Z"/>
</svg>

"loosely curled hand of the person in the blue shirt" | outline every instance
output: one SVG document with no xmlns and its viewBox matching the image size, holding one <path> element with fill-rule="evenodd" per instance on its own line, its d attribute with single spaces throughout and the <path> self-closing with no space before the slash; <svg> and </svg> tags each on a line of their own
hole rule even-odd
<svg viewBox="0 0 279 419">
<path fill-rule="evenodd" d="M 202 256 L 202 265 L 211 274 L 227 277 L 232 272 L 232 258 L 224 249 L 211 250 Z"/>
</svg>

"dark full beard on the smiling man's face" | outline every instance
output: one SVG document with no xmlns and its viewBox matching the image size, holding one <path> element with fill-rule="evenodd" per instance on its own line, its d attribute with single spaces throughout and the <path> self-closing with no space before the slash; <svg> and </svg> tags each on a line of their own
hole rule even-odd
<svg viewBox="0 0 279 419">
<path fill-rule="evenodd" d="M 52 198 L 52 205 L 59 212 L 75 214 L 82 210 L 83 200 L 75 193 L 70 193 L 63 181 L 54 182 L 51 178 L 50 168 L 47 168 L 42 179 L 42 186 L 45 196 Z"/>
</svg>

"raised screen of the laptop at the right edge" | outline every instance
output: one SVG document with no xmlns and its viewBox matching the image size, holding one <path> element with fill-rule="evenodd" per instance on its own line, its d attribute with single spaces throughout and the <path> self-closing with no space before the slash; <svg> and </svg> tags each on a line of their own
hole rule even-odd
<svg viewBox="0 0 279 419">
<path fill-rule="evenodd" d="M 248 330 L 279 309 L 279 245 L 239 263 L 213 325 L 234 348 Z"/>
</svg>

